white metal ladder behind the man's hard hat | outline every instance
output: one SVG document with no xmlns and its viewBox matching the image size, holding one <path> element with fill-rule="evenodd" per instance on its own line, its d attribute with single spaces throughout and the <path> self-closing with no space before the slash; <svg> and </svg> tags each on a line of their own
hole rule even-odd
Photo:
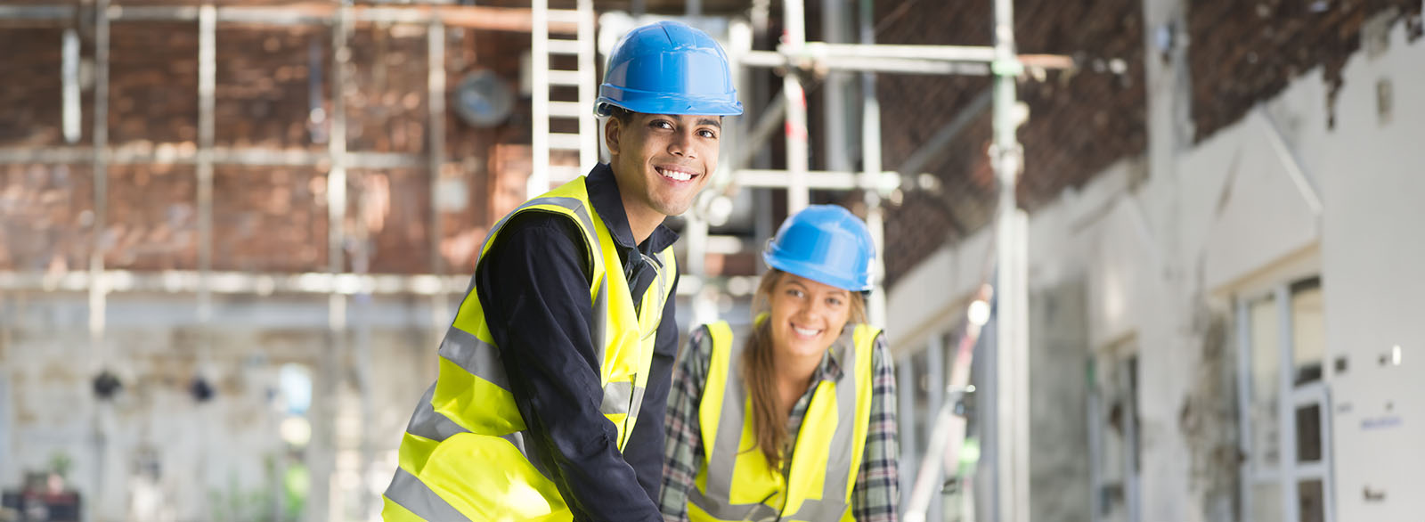
<svg viewBox="0 0 1425 522">
<path fill-rule="evenodd" d="M 564 181 L 589 173 L 598 161 L 598 120 L 593 117 L 594 76 L 594 1 L 579 0 L 576 9 L 549 9 L 549 0 L 532 4 L 530 111 L 533 164 L 526 197 L 536 197 Z M 550 23 L 577 26 L 574 40 L 550 39 Z M 550 68 L 556 54 L 577 56 L 577 70 Z M 579 101 L 550 101 L 550 88 L 579 87 Z M 550 120 L 577 120 L 579 133 L 550 133 Z M 550 165 L 551 151 L 577 150 L 579 167 Z"/>
</svg>

